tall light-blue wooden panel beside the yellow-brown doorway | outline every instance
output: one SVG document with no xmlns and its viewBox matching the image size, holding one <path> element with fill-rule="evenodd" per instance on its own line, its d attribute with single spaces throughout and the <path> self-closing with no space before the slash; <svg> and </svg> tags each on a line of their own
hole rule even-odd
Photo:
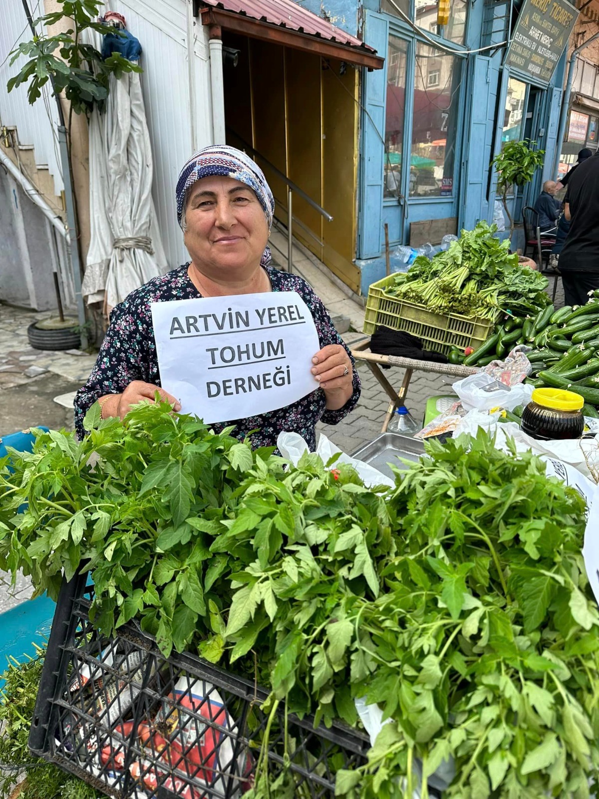
<svg viewBox="0 0 599 799">
<path fill-rule="evenodd" d="M 387 89 L 387 42 L 389 23 L 381 14 L 366 12 L 364 41 L 385 58 L 382 70 L 363 70 L 362 157 L 360 165 L 359 242 L 360 258 L 381 254 L 383 229 L 383 169 L 385 148 L 385 102 Z M 369 117 L 370 115 L 370 117 Z M 374 123 L 374 124 L 373 124 Z"/>
</svg>

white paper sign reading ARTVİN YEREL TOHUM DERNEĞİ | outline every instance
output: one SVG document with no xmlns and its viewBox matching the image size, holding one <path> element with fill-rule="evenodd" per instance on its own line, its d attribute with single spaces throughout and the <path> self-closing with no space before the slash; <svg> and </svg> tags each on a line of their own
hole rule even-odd
<svg viewBox="0 0 599 799">
<path fill-rule="evenodd" d="M 320 344 L 297 292 L 151 304 L 161 384 L 204 422 L 245 419 L 301 400 Z"/>
</svg>

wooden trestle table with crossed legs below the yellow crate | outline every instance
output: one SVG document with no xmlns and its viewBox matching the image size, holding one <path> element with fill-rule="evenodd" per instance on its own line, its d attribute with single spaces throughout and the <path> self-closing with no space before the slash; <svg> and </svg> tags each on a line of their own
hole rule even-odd
<svg viewBox="0 0 599 799">
<path fill-rule="evenodd" d="M 462 366 L 462 364 L 436 364 L 431 360 L 414 360 L 394 355 L 376 355 L 374 352 L 370 352 L 370 344 L 370 337 L 367 336 L 363 341 L 351 348 L 351 355 L 354 356 L 355 360 L 363 360 L 367 364 L 389 397 L 389 407 L 387 407 L 387 415 L 383 421 L 382 433 L 387 432 L 387 425 L 397 408 L 405 404 L 407 390 L 414 372 L 435 372 L 438 375 L 460 378 L 474 375 L 479 371 L 476 367 Z M 384 376 L 381 366 L 397 366 L 406 370 L 399 391 L 395 391 L 387 377 Z"/>
</svg>

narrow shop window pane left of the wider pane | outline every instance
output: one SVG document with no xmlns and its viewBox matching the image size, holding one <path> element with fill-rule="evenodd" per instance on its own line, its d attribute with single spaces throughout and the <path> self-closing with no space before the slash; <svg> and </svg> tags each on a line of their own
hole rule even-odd
<svg viewBox="0 0 599 799">
<path fill-rule="evenodd" d="M 399 197 L 402 185 L 403 126 L 406 118 L 407 42 L 389 37 L 385 117 L 385 197 Z"/>
</svg>

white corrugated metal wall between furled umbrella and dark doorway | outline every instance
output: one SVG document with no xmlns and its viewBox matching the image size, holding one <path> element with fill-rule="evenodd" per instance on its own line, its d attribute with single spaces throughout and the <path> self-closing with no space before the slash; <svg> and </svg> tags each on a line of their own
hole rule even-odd
<svg viewBox="0 0 599 799">
<path fill-rule="evenodd" d="M 191 0 L 188 0 L 191 2 Z M 188 260 L 177 225 L 175 186 L 192 155 L 192 114 L 185 0 L 110 0 L 106 8 L 125 14 L 127 28 L 141 42 L 145 113 L 154 157 L 153 197 L 171 268 Z M 193 23 L 196 148 L 212 144 L 212 100 L 208 31 Z"/>
</svg>

